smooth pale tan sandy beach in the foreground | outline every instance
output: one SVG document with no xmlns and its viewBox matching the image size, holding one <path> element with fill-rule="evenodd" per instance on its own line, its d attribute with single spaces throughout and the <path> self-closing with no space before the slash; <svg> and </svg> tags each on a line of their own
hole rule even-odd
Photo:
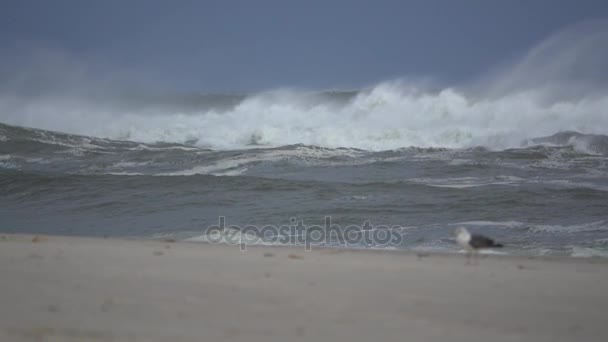
<svg viewBox="0 0 608 342">
<path fill-rule="evenodd" d="M 608 261 L 0 236 L 2 341 L 605 341 Z"/>
</svg>

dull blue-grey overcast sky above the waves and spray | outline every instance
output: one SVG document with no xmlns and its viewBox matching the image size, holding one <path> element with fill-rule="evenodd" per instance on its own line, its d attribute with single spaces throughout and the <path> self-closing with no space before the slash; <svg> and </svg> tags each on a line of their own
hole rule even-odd
<svg viewBox="0 0 608 342">
<path fill-rule="evenodd" d="M 606 0 L 0 0 L 0 76 L 204 92 L 458 83 L 607 16 Z"/>
</svg>

